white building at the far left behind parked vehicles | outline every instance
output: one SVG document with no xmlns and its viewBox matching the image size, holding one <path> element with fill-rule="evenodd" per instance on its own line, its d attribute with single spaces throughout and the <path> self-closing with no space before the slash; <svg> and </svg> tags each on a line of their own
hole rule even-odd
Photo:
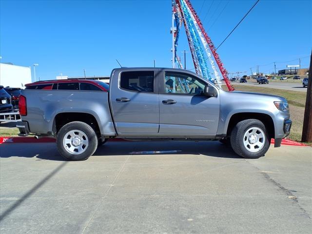
<svg viewBox="0 0 312 234">
<path fill-rule="evenodd" d="M 30 67 L 0 63 L 0 85 L 4 87 L 24 88 L 25 84 L 31 82 Z"/>
</svg>

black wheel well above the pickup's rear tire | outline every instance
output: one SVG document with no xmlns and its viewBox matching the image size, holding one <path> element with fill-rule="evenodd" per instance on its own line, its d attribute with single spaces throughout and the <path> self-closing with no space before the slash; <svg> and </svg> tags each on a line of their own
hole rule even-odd
<svg viewBox="0 0 312 234">
<path fill-rule="evenodd" d="M 97 119 L 93 115 L 86 113 L 76 113 L 76 112 L 59 113 L 58 115 L 56 115 L 54 119 L 53 132 L 57 134 L 61 129 L 61 127 L 73 121 L 81 121 L 86 124 L 89 124 L 94 129 L 97 136 L 101 137 L 101 132 L 98 127 Z"/>
</svg>

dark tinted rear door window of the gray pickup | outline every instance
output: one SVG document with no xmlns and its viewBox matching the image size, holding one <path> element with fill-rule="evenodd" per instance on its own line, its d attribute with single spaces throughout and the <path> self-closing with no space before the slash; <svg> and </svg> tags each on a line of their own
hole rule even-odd
<svg viewBox="0 0 312 234">
<path fill-rule="evenodd" d="M 154 92 L 154 71 L 123 72 L 120 88 L 135 92 Z"/>
</svg>

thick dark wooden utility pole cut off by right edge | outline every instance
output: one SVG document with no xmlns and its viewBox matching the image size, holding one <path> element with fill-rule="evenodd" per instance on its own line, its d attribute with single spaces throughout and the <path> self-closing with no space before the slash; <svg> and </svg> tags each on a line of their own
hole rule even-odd
<svg viewBox="0 0 312 234">
<path fill-rule="evenodd" d="M 306 108 L 304 110 L 302 142 L 312 142 L 312 52 L 310 58 Z"/>
</svg>

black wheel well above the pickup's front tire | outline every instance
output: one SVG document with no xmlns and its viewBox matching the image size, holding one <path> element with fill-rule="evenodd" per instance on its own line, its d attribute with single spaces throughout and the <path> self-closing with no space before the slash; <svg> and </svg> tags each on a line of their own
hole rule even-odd
<svg viewBox="0 0 312 234">
<path fill-rule="evenodd" d="M 260 120 L 264 124 L 264 126 L 266 127 L 269 136 L 271 138 L 275 137 L 274 122 L 273 122 L 272 117 L 267 115 L 267 114 L 262 114 L 262 113 L 237 113 L 237 114 L 234 114 L 229 121 L 228 130 L 227 130 L 227 134 L 226 134 L 227 137 L 229 137 L 231 135 L 232 129 L 234 128 L 234 126 L 238 122 L 245 120 L 245 119 L 250 119 L 250 118 Z"/>
</svg>

